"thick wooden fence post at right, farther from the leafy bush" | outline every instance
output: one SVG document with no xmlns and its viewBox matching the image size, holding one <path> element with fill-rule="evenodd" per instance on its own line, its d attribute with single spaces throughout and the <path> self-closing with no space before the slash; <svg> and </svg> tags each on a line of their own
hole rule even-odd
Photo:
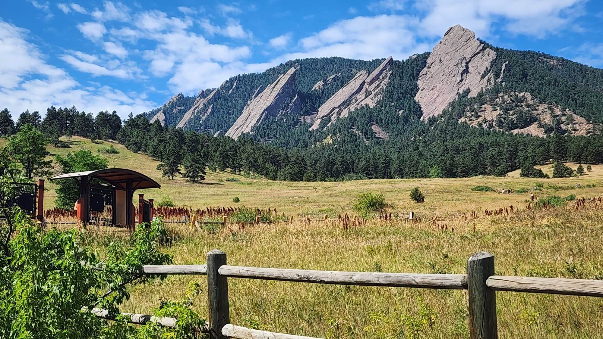
<svg viewBox="0 0 603 339">
<path fill-rule="evenodd" d="M 494 255 L 478 252 L 467 260 L 469 332 L 471 339 L 496 339 L 496 293 L 486 285 L 494 275 Z"/>
</svg>

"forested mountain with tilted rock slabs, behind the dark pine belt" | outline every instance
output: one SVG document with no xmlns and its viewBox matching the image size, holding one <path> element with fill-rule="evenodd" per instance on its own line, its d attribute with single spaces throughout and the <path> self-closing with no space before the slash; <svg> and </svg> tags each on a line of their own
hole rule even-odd
<svg viewBox="0 0 603 339">
<path fill-rule="evenodd" d="M 248 135 L 285 147 L 346 136 L 369 145 L 408 134 L 409 122 L 446 116 L 479 129 L 541 137 L 603 129 L 603 69 L 497 48 L 460 25 L 431 52 L 384 57 L 287 61 L 233 76 L 196 97 L 178 93 L 144 115 L 164 126 Z"/>
</svg>

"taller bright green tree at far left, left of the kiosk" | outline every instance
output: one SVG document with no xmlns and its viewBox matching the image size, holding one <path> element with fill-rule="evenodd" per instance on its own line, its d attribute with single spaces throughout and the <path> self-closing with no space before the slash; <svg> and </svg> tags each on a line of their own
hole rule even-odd
<svg viewBox="0 0 603 339">
<path fill-rule="evenodd" d="M 28 179 L 50 173 L 50 160 L 45 160 L 46 138 L 29 123 L 21 126 L 17 134 L 8 138 L 8 154 L 21 164 Z"/>
</svg>

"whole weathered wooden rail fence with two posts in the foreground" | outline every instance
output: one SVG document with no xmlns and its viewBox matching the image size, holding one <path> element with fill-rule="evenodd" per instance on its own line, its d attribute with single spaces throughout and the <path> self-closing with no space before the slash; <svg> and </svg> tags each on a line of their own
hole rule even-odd
<svg viewBox="0 0 603 339">
<path fill-rule="evenodd" d="M 198 331 L 209 333 L 212 339 L 317 339 L 302 335 L 260 331 L 231 324 L 228 278 L 468 290 L 471 339 L 493 339 L 498 337 L 496 291 L 603 297 L 603 281 L 494 275 L 494 255 L 487 252 L 475 253 L 467 260 L 466 274 L 337 272 L 229 266 L 226 263 L 226 253 L 217 249 L 210 250 L 207 253 L 206 265 L 143 266 L 142 273 L 153 275 L 207 275 L 209 326 L 198 329 Z M 102 309 L 93 309 L 92 312 L 97 317 L 115 319 L 115 315 Z M 131 323 L 156 322 L 161 326 L 172 328 L 177 326 L 174 318 L 156 318 L 144 314 L 122 314 Z"/>
</svg>

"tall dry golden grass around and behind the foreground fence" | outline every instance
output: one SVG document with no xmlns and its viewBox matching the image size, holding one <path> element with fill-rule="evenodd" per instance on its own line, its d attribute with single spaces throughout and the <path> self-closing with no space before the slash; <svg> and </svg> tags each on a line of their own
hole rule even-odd
<svg viewBox="0 0 603 339">
<path fill-rule="evenodd" d="M 475 222 L 475 229 L 474 229 Z M 455 231 L 452 231 L 452 226 Z M 510 216 L 450 222 L 449 231 L 408 222 L 368 221 L 345 230 L 338 222 L 276 223 L 215 232 L 173 228 L 178 240 L 166 248 L 175 264 L 201 264 L 217 248 L 239 266 L 318 270 L 464 273 L 469 256 L 485 250 L 499 275 L 603 278 L 603 208 L 523 211 Z M 122 310 L 148 313 L 160 299 L 186 295 L 203 276 L 169 276 L 139 286 Z M 408 319 L 420 319 L 425 300 L 432 326 L 418 338 L 467 336 L 466 291 L 342 287 L 300 282 L 229 279 L 232 323 L 250 319 L 268 331 L 332 338 L 398 338 Z M 206 294 L 194 308 L 207 314 Z M 500 338 L 594 338 L 603 334 L 603 300 L 594 297 L 497 293 Z M 371 320 L 372 317 L 372 320 Z M 377 320 L 375 320 L 375 318 Z M 376 332 L 366 329 L 374 325 Z M 347 335 L 352 329 L 353 335 Z M 402 337 L 403 338 L 403 337 Z"/>
</svg>

